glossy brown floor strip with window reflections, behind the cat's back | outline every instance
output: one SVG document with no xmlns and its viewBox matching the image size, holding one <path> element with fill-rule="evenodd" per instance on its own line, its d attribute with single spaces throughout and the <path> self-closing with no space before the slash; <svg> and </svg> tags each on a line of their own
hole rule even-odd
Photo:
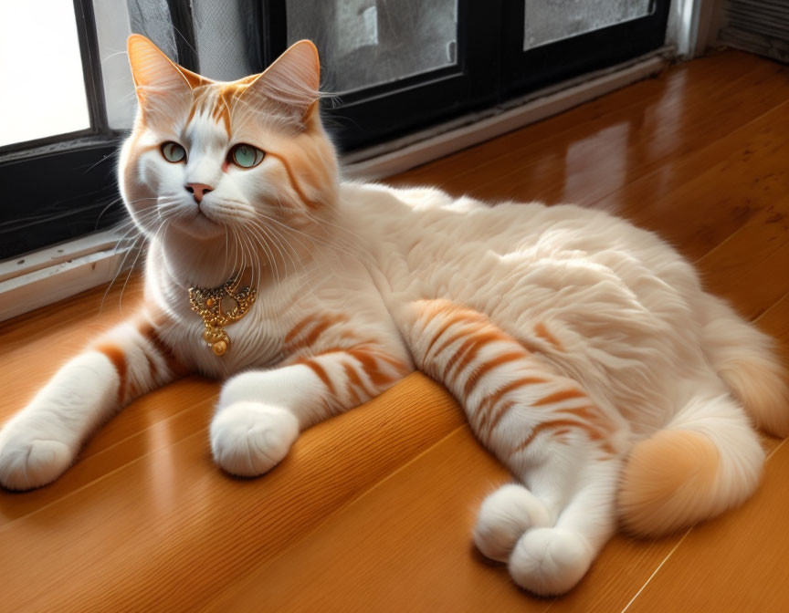
<svg viewBox="0 0 789 613">
<path fill-rule="evenodd" d="M 392 182 L 433 182 L 494 201 L 594 203 L 773 109 L 787 90 L 789 70 L 778 64 L 707 57 Z"/>
</svg>

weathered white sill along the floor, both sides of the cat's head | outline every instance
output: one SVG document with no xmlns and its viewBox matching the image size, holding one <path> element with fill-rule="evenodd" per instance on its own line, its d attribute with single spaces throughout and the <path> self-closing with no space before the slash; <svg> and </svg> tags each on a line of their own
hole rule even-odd
<svg viewBox="0 0 789 613">
<path fill-rule="evenodd" d="M 672 55 L 673 49 L 664 47 L 505 105 L 353 151 L 342 160 L 343 176 L 373 181 L 407 171 L 656 75 Z M 116 248 L 120 239 L 120 232 L 107 230 L 0 262 L 0 321 L 110 282 L 136 258 L 129 247 Z"/>
</svg>

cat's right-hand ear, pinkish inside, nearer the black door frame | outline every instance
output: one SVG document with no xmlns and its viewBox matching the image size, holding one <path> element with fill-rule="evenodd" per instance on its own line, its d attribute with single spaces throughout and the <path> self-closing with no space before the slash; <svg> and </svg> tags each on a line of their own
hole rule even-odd
<svg viewBox="0 0 789 613">
<path fill-rule="evenodd" d="M 249 83 L 242 99 L 261 108 L 273 104 L 304 122 L 318 106 L 320 84 L 318 49 L 311 41 L 300 40 Z"/>
</svg>

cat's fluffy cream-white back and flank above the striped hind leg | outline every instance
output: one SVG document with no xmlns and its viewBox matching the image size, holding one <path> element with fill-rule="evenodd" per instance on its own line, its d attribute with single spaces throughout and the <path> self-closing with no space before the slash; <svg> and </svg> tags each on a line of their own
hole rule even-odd
<svg viewBox="0 0 789 613">
<path fill-rule="evenodd" d="M 698 277 L 656 234 L 574 205 L 490 206 L 430 188 L 364 185 L 344 195 L 342 217 L 366 245 L 395 320 L 415 300 L 473 308 L 531 338 L 601 407 L 629 403 L 644 415 L 667 380 L 703 360 Z M 544 330 L 557 347 L 542 342 Z M 632 398 L 629 383 L 611 383 L 632 380 L 643 399 Z"/>
</svg>

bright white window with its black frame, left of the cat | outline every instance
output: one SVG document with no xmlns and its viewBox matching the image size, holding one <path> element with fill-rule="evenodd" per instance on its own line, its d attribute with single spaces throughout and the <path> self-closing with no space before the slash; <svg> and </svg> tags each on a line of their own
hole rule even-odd
<svg viewBox="0 0 789 613">
<path fill-rule="evenodd" d="M 118 192 L 117 135 L 100 94 L 87 0 L 4 3 L 0 22 L 0 74 L 15 94 L 0 99 L 5 259 L 117 220 L 101 216 Z"/>
</svg>

